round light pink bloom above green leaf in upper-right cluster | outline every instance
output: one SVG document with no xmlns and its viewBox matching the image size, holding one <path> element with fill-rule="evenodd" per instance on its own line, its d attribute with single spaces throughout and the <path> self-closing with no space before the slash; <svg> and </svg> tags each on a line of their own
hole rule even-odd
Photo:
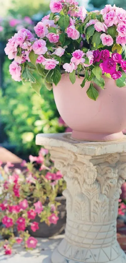
<svg viewBox="0 0 126 263">
<path fill-rule="evenodd" d="M 117 14 L 115 11 L 109 11 L 107 14 L 103 15 L 104 23 L 110 27 L 118 23 Z"/>
</svg>

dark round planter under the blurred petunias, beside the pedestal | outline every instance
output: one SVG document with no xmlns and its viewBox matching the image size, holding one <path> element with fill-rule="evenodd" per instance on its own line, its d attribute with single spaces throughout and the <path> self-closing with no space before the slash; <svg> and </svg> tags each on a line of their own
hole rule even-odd
<svg viewBox="0 0 126 263">
<path fill-rule="evenodd" d="M 31 222 L 34 222 L 34 221 L 38 222 L 39 229 L 36 232 L 33 232 L 31 227 L 28 226 L 27 229 L 30 235 L 32 235 L 33 237 L 47 238 L 47 237 L 51 237 L 54 235 L 59 235 L 59 234 L 64 233 L 65 226 L 66 226 L 66 198 L 63 196 L 57 197 L 56 201 L 61 203 L 61 205 L 58 207 L 59 220 L 57 224 L 56 225 L 51 224 L 51 226 L 49 227 L 44 222 L 40 223 L 40 217 L 36 216 L 36 218 L 34 220 L 31 220 Z"/>
</svg>

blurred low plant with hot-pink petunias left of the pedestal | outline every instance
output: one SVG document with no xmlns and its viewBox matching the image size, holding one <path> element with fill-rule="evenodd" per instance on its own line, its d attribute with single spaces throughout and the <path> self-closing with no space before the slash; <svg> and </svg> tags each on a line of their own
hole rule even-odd
<svg viewBox="0 0 126 263">
<path fill-rule="evenodd" d="M 0 221 L 5 226 L 0 234 L 9 237 L 1 243 L 5 254 L 11 254 L 15 243 L 23 243 L 26 248 L 36 247 L 37 239 L 31 237 L 27 230 L 28 226 L 33 232 L 39 229 L 36 216 L 48 226 L 57 224 L 59 219 L 60 203 L 55 198 L 62 196 L 66 188 L 63 176 L 53 167 L 48 150 L 42 148 L 38 156 L 30 155 L 29 159 L 29 163 L 23 161 L 21 164 L 23 171 L 11 169 L 13 165 L 10 162 L 0 166 L 3 178 L 0 183 Z M 14 236 L 14 229 L 17 229 L 18 237 Z"/>
</svg>

